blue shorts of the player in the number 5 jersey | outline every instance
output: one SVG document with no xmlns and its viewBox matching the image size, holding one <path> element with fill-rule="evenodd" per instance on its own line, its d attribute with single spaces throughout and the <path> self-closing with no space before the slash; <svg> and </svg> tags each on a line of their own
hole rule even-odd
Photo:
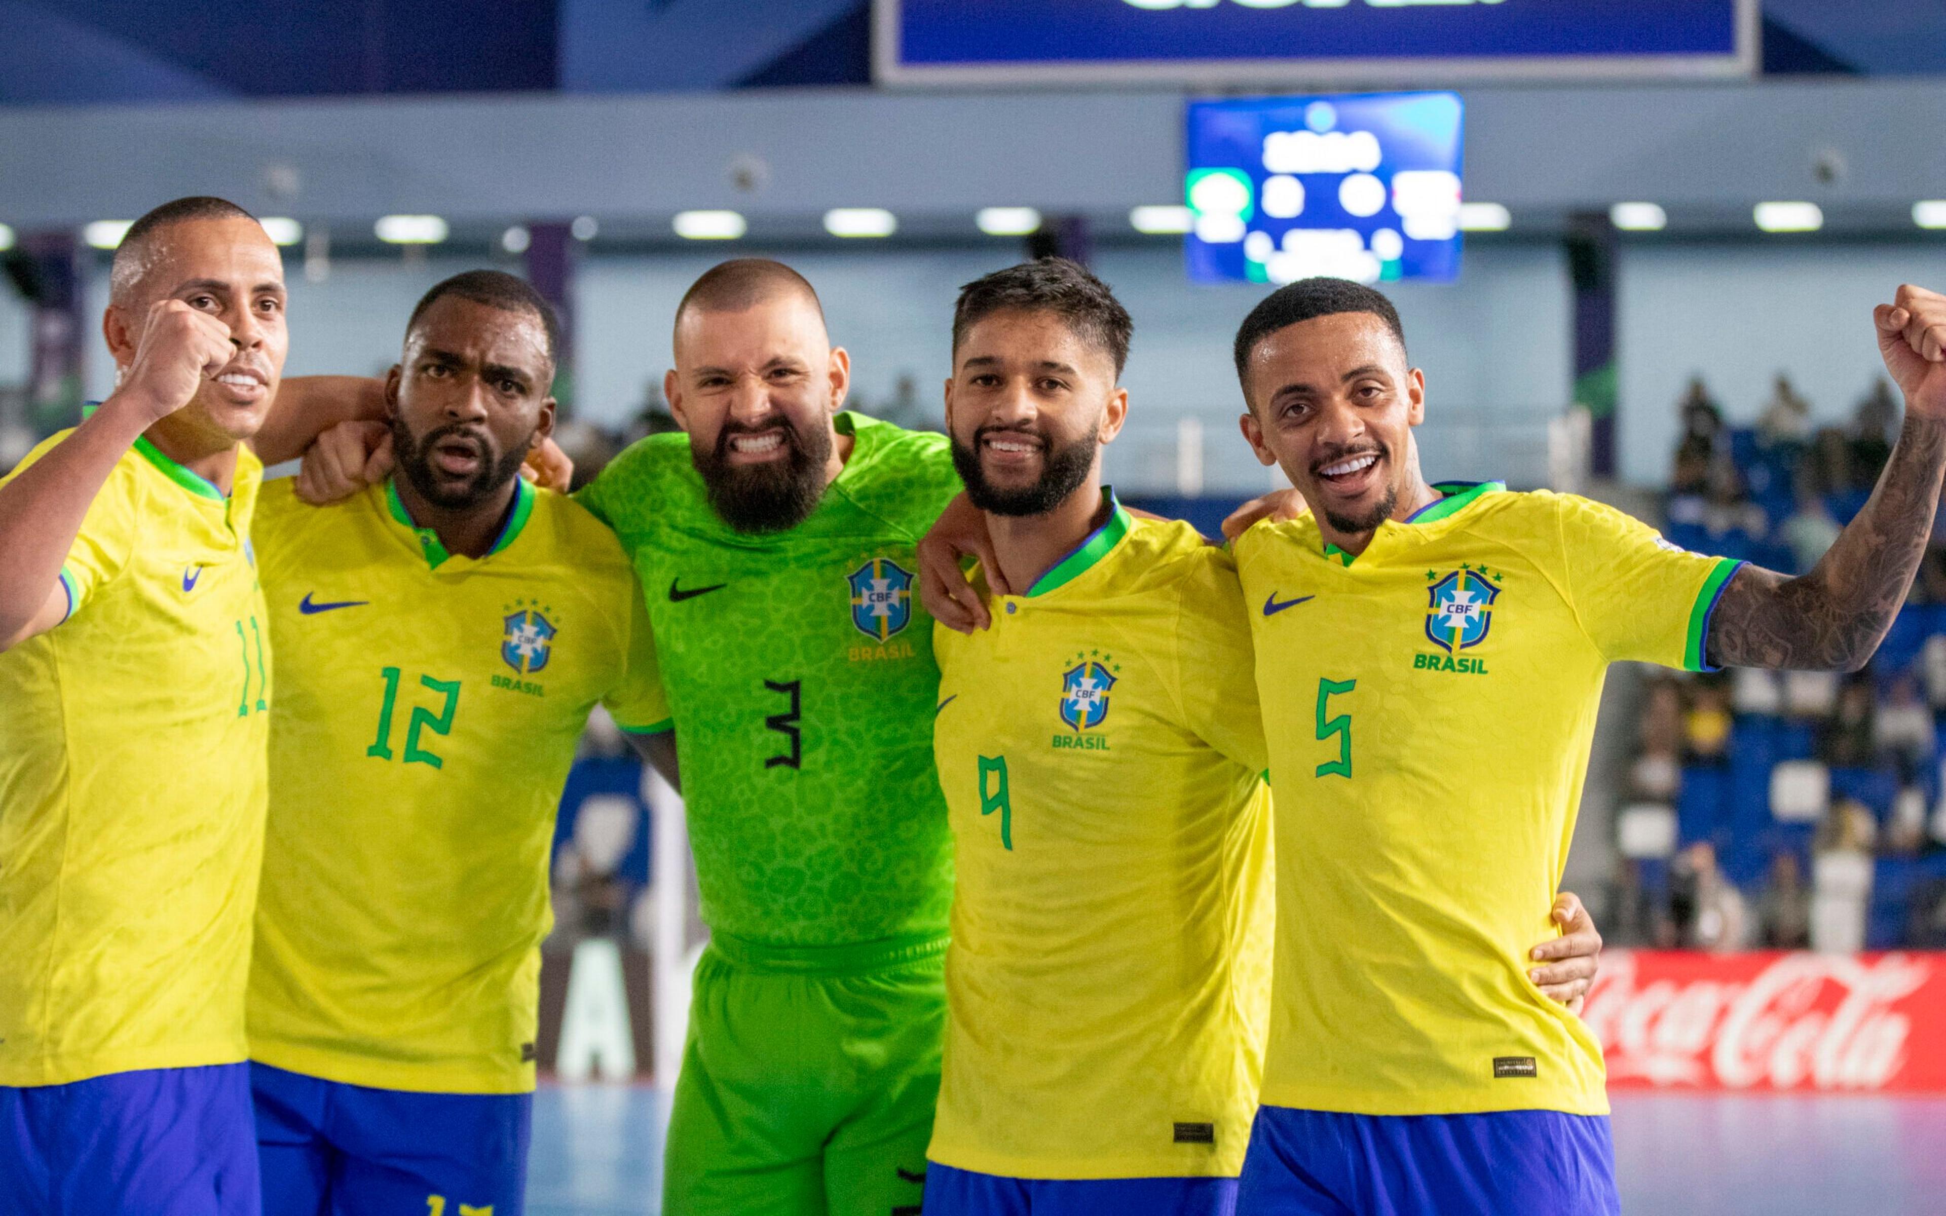
<svg viewBox="0 0 1946 1216">
<path fill-rule="evenodd" d="M 1607 1115 L 1263 1107 L 1238 1216 L 1617 1216 Z M 930 1216 L 930 1214 L 928 1214 Z"/>
</svg>

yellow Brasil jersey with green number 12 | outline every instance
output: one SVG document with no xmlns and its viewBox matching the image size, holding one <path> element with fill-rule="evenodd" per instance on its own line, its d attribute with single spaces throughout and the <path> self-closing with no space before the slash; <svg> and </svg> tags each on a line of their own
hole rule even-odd
<svg viewBox="0 0 1946 1216">
<path fill-rule="evenodd" d="M 520 484 L 483 558 L 391 483 L 257 514 L 282 700 L 251 1058 L 354 1086 L 533 1088 L 555 811 L 588 712 L 667 716 L 634 572 L 582 506 Z"/>
</svg>

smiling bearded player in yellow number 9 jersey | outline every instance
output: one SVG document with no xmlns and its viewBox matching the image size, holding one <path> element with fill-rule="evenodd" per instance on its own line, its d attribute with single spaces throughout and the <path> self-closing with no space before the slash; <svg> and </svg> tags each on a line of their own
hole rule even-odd
<svg viewBox="0 0 1946 1216">
<path fill-rule="evenodd" d="M 1243 1162 L 1271 946 L 1249 623 L 1228 553 L 1101 488 L 1129 331 L 1063 259 L 954 317 L 954 461 L 1022 593 L 934 630 L 957 889 L 928 1216 L 1228 1212 Z"/>
</svg>

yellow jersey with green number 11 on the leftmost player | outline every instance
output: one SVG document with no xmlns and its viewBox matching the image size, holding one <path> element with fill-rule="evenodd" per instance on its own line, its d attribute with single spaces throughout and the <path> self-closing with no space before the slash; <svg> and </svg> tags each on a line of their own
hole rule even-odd
<svg viewBox="0 0 1946 1216">
<path fill-rule="evenodd" d="M 261 479 L 241 449 L 224 496 L 136 440 L 62 566 L 66 621 L 0 654 L 0 1086 L 245 1058 Z"/>
</svg>

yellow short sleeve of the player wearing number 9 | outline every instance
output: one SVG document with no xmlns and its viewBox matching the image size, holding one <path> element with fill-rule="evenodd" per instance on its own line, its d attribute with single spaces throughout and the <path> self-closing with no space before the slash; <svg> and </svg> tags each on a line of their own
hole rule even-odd
<svg viewBox="0 0 1946 1216">
<path fill-rule="evenodd" d="M 1271 767 L 1257 708 L 1257 658 L 1236 560 L 1207 547 L 1191 556 L 1175 625 L 1177 687 L 1189 728 L 1224 757 L 1263 772 Z"/>
</svg>

